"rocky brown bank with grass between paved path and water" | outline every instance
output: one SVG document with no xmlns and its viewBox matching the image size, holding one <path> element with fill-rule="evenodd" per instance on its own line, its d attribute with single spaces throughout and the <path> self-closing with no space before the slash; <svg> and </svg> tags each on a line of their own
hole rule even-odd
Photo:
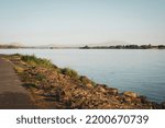
<svg viewBox="0 0 165 128">
<path fill-rule="evenodd" d="M 3 55 L 14 67 L 37 108 L 48 109 L 158 109 L 157 104 L 134 92 L 95 83 L 68 68 L 58 68 L 35 56 Z"/>
</svg>

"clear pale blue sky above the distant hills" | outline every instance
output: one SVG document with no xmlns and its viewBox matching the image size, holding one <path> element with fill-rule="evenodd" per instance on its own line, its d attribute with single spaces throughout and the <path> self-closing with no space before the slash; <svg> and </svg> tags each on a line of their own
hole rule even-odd
<svg viewBox="0 0 165 128">
<path fill-rule="evenodd" d="M 0 43 L 165 45 L 165 0 L 0 0 Z"/>
</svg>

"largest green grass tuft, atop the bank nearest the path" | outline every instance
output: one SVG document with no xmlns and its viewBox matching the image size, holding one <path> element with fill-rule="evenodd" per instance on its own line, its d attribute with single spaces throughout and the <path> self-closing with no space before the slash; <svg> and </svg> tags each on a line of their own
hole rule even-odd
<svg viewBox="0 0 165 128">
<path fill-rule="evenodd" d="M 22 56 L 21 57 L 22 61 L 28 62 L 29 65 L 32 66 L 44 66 L 44 67 L 54 67 L 54 65 L 48 59 L 43 59 L 43 58 L 36 58 L 35 55 L 29 56 Z"/>
</svg>

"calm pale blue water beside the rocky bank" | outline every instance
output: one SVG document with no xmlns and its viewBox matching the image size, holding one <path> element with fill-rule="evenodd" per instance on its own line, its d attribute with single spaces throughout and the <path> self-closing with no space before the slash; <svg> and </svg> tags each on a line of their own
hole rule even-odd
<svg viewBox="0 0 165 128">
<path fill-rule="evenodd" d="M 35 54 L 69 67 L 96 82 L 165 101 L 165 50 L 157 49 L 0 49 L 0 54 Z"/>
</svg>

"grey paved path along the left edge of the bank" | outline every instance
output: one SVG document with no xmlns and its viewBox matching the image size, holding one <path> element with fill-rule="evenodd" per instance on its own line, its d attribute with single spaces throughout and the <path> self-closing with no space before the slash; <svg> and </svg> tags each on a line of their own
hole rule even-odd
<svg viewBox="0 0 165 128">
<path fill-rule="evenodd" d="M 0 108 L 34 108 L 28 91 L 21 86 L 12 65 L 0 55 Z"/>
</svg>

